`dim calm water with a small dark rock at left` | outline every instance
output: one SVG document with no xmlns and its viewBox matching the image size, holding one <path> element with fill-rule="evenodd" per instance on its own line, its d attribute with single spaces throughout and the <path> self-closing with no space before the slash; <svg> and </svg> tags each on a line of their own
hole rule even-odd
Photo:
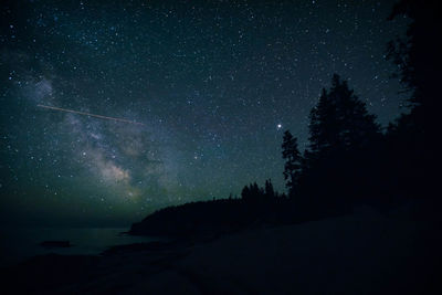
<svg viewBox="0 0 442 295">
<path fill-rule="evenodd" d="M 120 234 L 128 228 L 85 228 L 85 229 L 48 229 L 19 228 L 0 229 L 0 266 L 19 263 L 28 257 L 48 254 L 99 254 L 113 245 L 151 242 L 158 239 Z M 43 241 L 69 240 L 71 247 L 45 249 Z"/>
</svg>

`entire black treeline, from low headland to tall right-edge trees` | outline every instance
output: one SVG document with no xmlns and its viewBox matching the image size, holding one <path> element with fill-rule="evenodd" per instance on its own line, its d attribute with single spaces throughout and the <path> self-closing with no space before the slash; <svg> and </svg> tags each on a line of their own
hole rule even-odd
<svg viewBox="0 0 442 295">
<path fill-rule="evenodd" d="M 406 15 L 407 36 L 388 44 L 388 59 L 410 93 L 408 109 L 385 130 L 347 81 L 334 74 L 309 115 L 308 146 L 284 133 L 282 157 L 287 194 L 245 186 L 241 198 L 188 203 L 159 210 L 131 228 L 135 234 L 218 233 L 262 223 L 302 222 L 348 213 L 357 204 L 390 210 L 408 200 L 438 198 L 440 144 L 438 80 L 441 40 L 433 1 L 402 0 L 390 19 Z"/>
</svg>

